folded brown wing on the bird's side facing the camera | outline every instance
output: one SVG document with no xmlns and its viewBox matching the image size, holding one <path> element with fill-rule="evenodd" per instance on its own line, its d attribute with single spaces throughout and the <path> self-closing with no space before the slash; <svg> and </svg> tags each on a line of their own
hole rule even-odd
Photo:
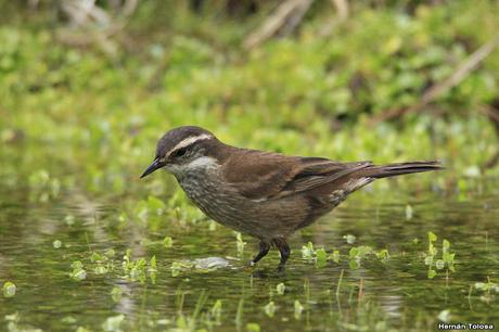
<svg viewBox="0 0 499 332">
<path fill-rule="evenodd" d="M 369 165 L 245 151 L 223 165 L 223 176 L 243 196 L 265 201 L 318 188 Z"/>
</svg>

